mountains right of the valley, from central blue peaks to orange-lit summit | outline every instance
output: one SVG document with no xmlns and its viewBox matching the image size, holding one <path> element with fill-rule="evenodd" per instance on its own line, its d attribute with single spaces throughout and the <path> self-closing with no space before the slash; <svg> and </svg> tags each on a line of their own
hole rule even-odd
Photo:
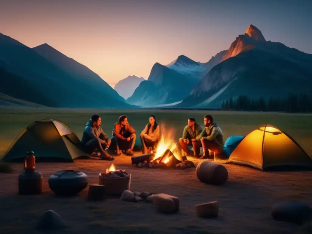
<svg viewBox="0 0 312 234">
<path fill-rule="evenodd" d="M 176 72 L 174 78 L 169 70 L 156 71 L 162 67 L 154 65 L 148 82 L 142 82 L 127 101 L 140 106 L 168 106 L 171 102 L 172 108 L 221 108 L 223 101 L 240 95 L 283 99 L 290 92 L 312 90 L 311 64 L 312 55 L 266 41 L 262 32 L 250 25 L 229 49 L 206 63 L 178 56 L 166 65 Z"/>
</svg>

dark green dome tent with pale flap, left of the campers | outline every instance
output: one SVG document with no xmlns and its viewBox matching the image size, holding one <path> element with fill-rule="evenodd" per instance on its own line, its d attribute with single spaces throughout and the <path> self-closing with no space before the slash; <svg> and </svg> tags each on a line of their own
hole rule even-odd
<svg viewBox="0 0 312 234">
<path fill-rule="evenodd" d="M 2 161 L 22 161 L 27 151 L 34 151 L 36 162 L 73 162 L 75 158 L 90 157 L 77 135 L 55 119 L 30 124 L 13 141 Z"/>
</svg>

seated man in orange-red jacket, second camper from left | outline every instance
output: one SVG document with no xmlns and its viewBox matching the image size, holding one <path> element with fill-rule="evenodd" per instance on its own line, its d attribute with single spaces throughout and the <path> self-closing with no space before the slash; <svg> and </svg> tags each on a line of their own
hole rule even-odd
<svg viewBox="0 0 312 234">
<path fill-rule="evenodd" d="M 128 117 L 122 115 L 119 121 L 114 124 L 113 136 L 111 137 L 110 151 L 116 151 L 120 155 L 120 150 L 125 151 L 127 155 L 133 155 L 135 144 L 135 130 L 128 123 Z"/>
</svg>

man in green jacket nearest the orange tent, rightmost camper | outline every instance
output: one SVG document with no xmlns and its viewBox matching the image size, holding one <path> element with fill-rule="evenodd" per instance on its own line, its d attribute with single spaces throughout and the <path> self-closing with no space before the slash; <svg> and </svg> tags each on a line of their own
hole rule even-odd
<svg viewBox="0 0 312 234">
<path fill-rule="evenodd" d="M 204 155 L 201 158 L 213 158 L 213 153 L 221 154 L 223 151 L 223 133 L 218 125 L 213 123 L 211 115 L 204 116 L 204 124 L 204 130 L 194 141 L 202 143 Z"/>
</svg>

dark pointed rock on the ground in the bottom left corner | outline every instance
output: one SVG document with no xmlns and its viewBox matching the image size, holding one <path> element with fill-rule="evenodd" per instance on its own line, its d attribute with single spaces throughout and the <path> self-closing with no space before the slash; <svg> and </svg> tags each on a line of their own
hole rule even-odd
<svg viewBox="0 0 312 234">
<path fill-rule="evenodd" d="M 38 220 L 37 228 L 45 230 L 53 230 L 65 227 L 63 218 L 53 210 L 44 212 Z"/>
</svg>

